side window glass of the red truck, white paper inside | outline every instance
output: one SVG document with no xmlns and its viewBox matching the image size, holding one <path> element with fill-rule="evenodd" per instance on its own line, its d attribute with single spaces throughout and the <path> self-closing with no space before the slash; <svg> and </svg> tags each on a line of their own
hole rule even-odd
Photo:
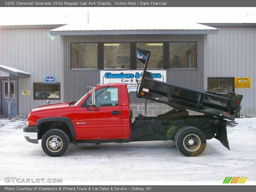
<svg viewBox="0 0 256 192">
<path fill-rule="evenodd" d="M 88 103 L 92 103 L 92 95 L 88 98 Z M 118 106 L 118 88 L 117 87 L 104 87 L 95 91 L 96 107 L 104 106 Z M 87 100 L 83 103 L 82 107 L 87 107 Z"/>
</svg>

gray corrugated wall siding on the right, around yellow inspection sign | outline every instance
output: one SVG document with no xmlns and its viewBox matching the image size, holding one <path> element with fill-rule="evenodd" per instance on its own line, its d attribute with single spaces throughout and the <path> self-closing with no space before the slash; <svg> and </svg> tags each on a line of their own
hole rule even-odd
<svg viewBox="0 0 256 192">
<path fill-rule="evenodd" d="M 219 28 L 218 35 L 208 35 L 208 77 L 251 77 L 251 89 L 235 89 L 244 96 L 242 115 L 256 115 L 255 48 L 256 28 Z"/>
</svg>

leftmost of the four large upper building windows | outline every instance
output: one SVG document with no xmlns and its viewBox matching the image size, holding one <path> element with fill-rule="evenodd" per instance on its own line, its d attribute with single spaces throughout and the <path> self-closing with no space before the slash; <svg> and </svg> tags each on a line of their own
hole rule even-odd
<svg viewBox="0 0 256 192">
<path fill-rule="evenodd" d="M 71 69 L 97 69 L 97 43 L 71 43 Z"/>
</svg>

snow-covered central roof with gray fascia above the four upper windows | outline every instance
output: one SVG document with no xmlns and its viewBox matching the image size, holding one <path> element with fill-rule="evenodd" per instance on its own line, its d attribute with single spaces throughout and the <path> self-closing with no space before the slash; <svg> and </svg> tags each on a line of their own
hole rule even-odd
<svg viewBox="0 0 256 192">
<path fill-rule="evenodd" d="M 218 29 L 198 23 L 160 22 L 89 22 L 68 24 L 51 30 L 51 35 L 133 35 L 133 34 L 217 34 Z"/>
</svg>

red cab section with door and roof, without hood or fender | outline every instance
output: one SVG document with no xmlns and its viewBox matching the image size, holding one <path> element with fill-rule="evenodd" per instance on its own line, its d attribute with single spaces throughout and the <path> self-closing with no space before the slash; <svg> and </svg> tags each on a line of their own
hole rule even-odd
<svg viewBox="0 0 256 192">
<path fill-rule="evenodd" d="M 74 104 L 76 140 L 129 139 L 131 112 L 126 84 L 107 84 L 95 87 L 92 94 Z"/>
</svg>

